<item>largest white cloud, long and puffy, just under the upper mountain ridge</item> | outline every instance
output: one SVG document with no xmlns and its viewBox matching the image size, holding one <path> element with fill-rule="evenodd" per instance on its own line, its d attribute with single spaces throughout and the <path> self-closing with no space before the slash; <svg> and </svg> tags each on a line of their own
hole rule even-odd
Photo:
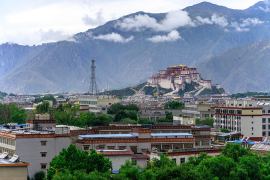
<svg viewBox="0 0 270 180">
<path fill-rule="evenodd" d="M 155 18 L 147 14 L 138 14 L 134 17 L 126 17 L 118 21 L 116 26 L 123 30 L 144 30 L 152 28 L 155 31 L 171 31 L 181 26 L 194 26 L 194 22 L 188 16 L 186 11 L 174 10 L 166 14 L 165 18 L 157 22 Z"/>
</svg>

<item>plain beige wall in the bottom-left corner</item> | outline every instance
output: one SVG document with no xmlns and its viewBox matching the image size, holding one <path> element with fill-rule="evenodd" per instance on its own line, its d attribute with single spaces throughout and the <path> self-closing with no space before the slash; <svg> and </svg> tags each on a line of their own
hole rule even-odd
<svg viewBox="0 0 270 180">
<path fill-rule="evenodd" d="M 1 180 L 26 180 L 27 166 L 0 166 Z"/>
</svg>

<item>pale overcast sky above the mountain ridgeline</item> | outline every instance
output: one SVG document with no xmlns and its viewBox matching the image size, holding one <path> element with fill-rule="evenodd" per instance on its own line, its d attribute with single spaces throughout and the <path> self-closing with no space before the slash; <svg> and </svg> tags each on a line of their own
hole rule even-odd
<svg viewBox="0 0 270 180">
<path fill-rule="evenodd" d="M 168 12 L 201 1 L 203 0 L 1 0 L 0 43 L 38 45 L 63 40 L 74 33 L 84 32 L 129 13 Z M 228 8 L 245 9 L 259 0 L 207 1 Z"/>
</svg>

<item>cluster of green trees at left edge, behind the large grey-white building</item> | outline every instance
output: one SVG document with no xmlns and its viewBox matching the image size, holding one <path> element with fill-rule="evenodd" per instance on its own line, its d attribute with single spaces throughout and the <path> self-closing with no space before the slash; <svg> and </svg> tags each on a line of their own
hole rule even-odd
<svg viewBox="0 0 270 180">
<path fill-rule="evenodd" d="M 23 124 L 26 122 L 26 116 L 26 110 L 20 108 L 15 103 L 0 103 L 0 124 L 7 124 L 9 122 L 17 122 L 18 124 Z"/>
</svg>

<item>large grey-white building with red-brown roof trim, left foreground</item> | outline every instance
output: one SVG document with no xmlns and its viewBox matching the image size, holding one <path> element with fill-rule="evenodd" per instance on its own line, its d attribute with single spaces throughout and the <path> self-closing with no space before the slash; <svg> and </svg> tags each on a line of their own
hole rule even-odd
<svg viewBox="0 0 270 180">
<path fill-rule="evenodd" d="M 0 129 L 0 152 L 16 154 L 28 162 L 28 175 L 32 177 L 36 171 L 45 171 L 51 159 L 69 146 L 71 134 L 69 127 L 55 127 L 55 119 L 48 114 L 26 119 L 26 127 L 21 125 L 23 128 Z"/>
</svg>

